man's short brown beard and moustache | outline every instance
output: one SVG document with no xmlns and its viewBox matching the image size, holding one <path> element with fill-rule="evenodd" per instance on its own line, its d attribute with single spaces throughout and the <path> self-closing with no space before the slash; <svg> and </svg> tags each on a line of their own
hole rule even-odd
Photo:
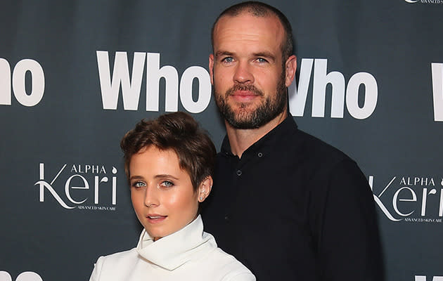
<svg viewBox="0 0 443 281">
<path fill-rule="evenodd" d="M 213 87 L 214 91 L 215 85 Z M 234 84 L 231 89 L 226 91 L 224 97 L 218 93 L 214 93 L 215 102 L 221 115 L 235 129 L 257 129 L 267 124 L 285 110 L 288 103 L 288 95 L 285 86 L 285 72 L 281 74 L 276 87 L 276 94 L 268 96 L 263 102 L 252 112 L 248 111 L 248 103 L 240 103 L 240 110 L 236 114 L 226 100 L 235 91 L 250 91 L 256 96 L 264 97 L 264 93 L 252 84 Z"/>
</svg>

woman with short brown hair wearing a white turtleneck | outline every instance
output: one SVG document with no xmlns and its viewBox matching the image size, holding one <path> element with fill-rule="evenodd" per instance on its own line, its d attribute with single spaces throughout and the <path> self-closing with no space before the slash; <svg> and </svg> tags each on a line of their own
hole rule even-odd
<svg viewBox="0 0 443 281">
<path fill-rule="evenodd" d="M 203 232 L 198 206 L 212 188 L 216 151 L 190 115 L 142 120 L 120 146 L 144 229 L 136 248 L 101 256 L 90 281 L 255 280 Z"/>
</svg>

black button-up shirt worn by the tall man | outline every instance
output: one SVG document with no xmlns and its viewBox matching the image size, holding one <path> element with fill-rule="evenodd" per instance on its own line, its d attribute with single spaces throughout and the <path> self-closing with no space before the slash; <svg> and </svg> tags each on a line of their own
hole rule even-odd
<svg viewBox="0 0 443 281">
<path fill-rule="evenodd" d="M 205 230 L 262 280 L 383 279 L 373 195 L 357 164 L 288 116 L 240 158 L 224 138 Z"/>
</svg>

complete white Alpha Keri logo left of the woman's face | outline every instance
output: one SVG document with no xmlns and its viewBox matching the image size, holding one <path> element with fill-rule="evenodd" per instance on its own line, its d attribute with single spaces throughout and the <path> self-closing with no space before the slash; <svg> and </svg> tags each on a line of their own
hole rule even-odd
<svg viewBox="0 0 443 281">
<path fill-rule="evenodd" d="M 39 201 L 56 201 L 65 209 L 115 211 L 117 169 L 97 164 L 63 164 L 46 171 L 39 164 Z M 48 197 L 52 197 L 49 198 Z"/>
</svg>

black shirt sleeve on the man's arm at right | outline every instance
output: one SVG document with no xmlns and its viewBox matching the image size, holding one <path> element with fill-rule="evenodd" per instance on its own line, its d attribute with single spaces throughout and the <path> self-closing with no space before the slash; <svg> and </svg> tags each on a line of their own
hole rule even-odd
<svg viewBox="0 0 443 281">
<path fill-rule="evenodd" d="M 375 203 L 364 174 L 351 159 L 321 174 L 323 206 L 315 223 L 320 280 L 385 280 Z"/>
</svg>

